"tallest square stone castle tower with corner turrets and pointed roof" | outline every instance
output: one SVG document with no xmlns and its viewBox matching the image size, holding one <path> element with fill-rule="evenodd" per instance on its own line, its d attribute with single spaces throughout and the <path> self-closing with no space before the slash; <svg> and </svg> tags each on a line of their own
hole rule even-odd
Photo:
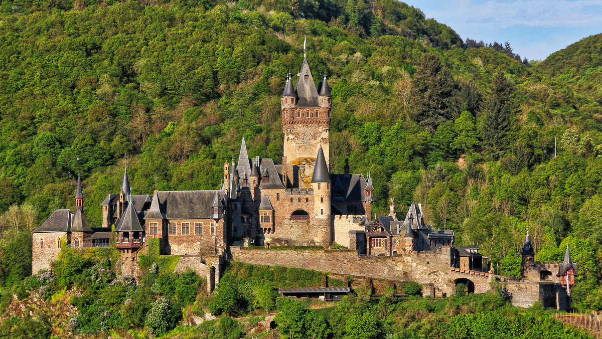
<svg viewBox="0 0 602 339">
<path fill-rule="evenodd" d="M 281 100 L 284 157 L 287 159 L 284 168 L 291 171 L 288 176 L 294 177 L 291 185 L 309 188 L 315 149 L 319 145 L 324 149 L 326 165 L 329 164 L 328 132 L 332 104 L 326 75 L 316 89 L 307 59 L 303 59 L 297 76 L 294 89 L 293 80 L 288 76 Z"/>
</svg>

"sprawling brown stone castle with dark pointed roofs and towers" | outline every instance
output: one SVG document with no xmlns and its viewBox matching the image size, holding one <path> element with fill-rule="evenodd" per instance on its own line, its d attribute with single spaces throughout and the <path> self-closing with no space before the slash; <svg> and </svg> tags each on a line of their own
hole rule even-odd
<svg viewBox="0 0 602 339">
<path fill-rule="evenodd" d="M 160 254 L 179 256 L 176 270 L 191 267 L 206 274 L 209 290 L 219 282 L 228 258 L 414 280 L 431 296 L 454 293 L 457 284 L 465 284 L 469 292 L 483 292 L 495 279 L 506 282 L 517 305 L 544 300 L 545 306 L 568 307 L 567 294 L 577 274 L 568 249 L 565 263 L 536 263 L 527 234 L 523 276 L 509 280 L 493 274 L 478 247 L 456 246 L 453 231 L 426 225 L 421 204 L 412 203 L 405 218 L 398 219 L 391 199 L 389 215 L 371 220 L 371 176 L 350 173 L 347 160 L 344 173 L 329 171 L 332 98 L 326 75 L 316 87 L 304 59 L 297 77 L 293 86 L 288 75 L 281 98 L 282 164 L 249 158 L 243 138 L 238 160 L 223 166 L 219 190 L 131 194 L 125 170 L 119 193 L 108 194 L 102 202 L 100 228 L 88 225 L 78 175 L 75 213 L 57 210 L 33 231 L 33 272 L 49 269 L 63 244 L 85 249 L 108 247 L 114 240 L 123 272 L 135 274 L 140 251 L 157 238 Z M 332 244 L 347 249 L 327 250 Z M 299 245 L 324 249 L 267 250 Z M 249 246 L 264 249 L 251 251 Z M 551 272 L 554 269 L 556 275 Z"/>
</svg>

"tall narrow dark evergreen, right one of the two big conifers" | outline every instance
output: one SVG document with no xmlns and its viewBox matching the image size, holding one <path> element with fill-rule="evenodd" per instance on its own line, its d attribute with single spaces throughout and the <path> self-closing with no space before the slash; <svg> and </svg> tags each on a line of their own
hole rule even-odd
<svg viewBox="0 0 602 339">
<path fill-rule="evenodd" d="M 512 111 L 514 84 L 506 79 L 501 70 L 495 72 L 486 110 L 483 115 L 483 146 L 494 159 L 501 156 L 507 146 L 507 133 L 510 130 L 508 115 Z"/>
</svg>

